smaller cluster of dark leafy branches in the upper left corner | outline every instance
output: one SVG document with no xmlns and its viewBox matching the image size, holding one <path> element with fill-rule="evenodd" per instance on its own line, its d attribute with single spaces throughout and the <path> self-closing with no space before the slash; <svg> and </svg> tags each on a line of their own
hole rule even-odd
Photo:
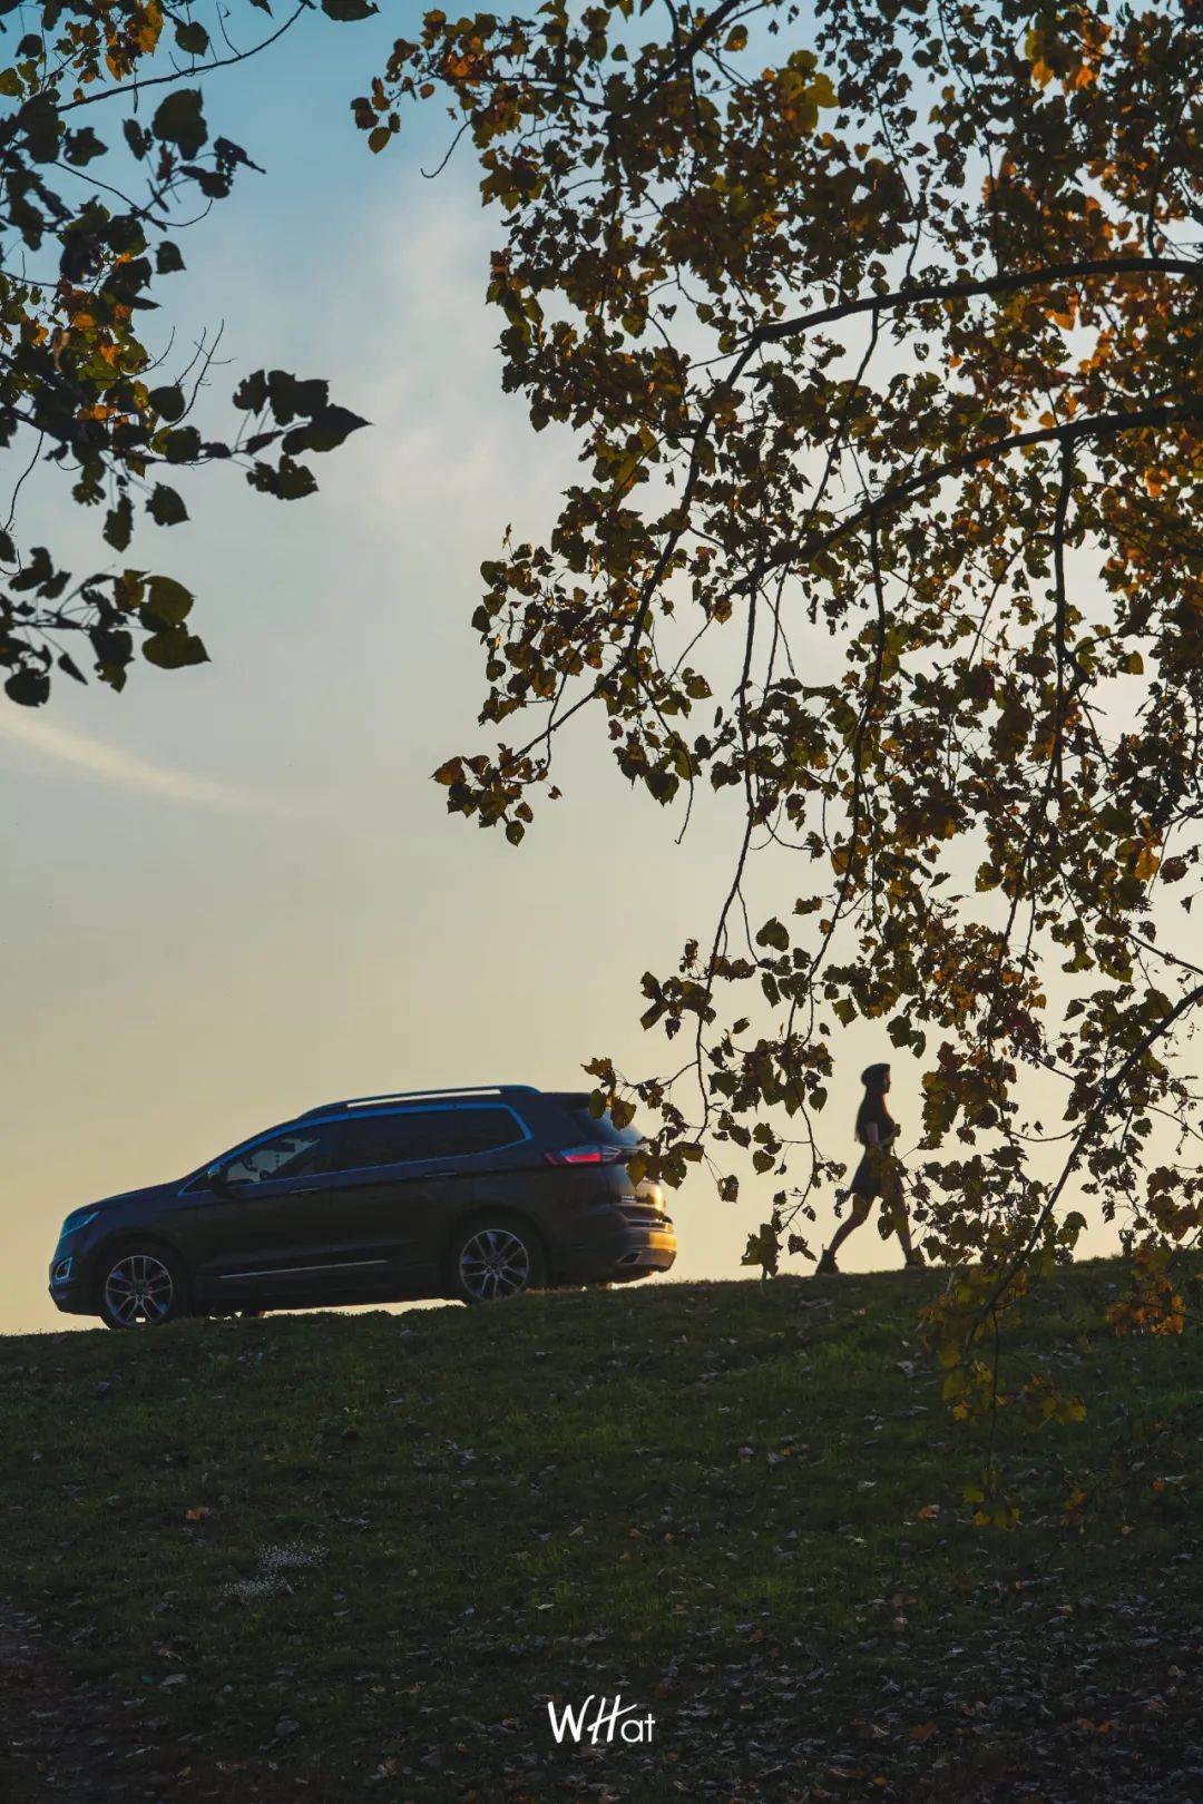
<svg viewBox="0 0 1203 1804">
<path fill-rule="evenodd" d="M 188 520 L 175 487 L 184 471 L 234 460 L 254 489 L 296 500 L 317 487 L 305 455 L 364 424 L 330 402 L 325 382 L 272 370 L 238 386 L 233 435 L 209 438 L 193 410 L 216 336 L 179 354 L 161 332 L 157 357 L 142 343 L 141 316 L 162 305 L 162 278 L 184 269 L 179 235 L 258 170 L 211 128 L 204 76 L 312 11 L 263 25 L 249 9 L 271 14 L 267 0 L 247 0 L 213 7 L 206 25 L 200 9 L 159 0 L 0 0 L 14 58 L 0 70 L 0 447 L 11 469 L 0 667 L 14 702 L 45 702 L 56 667 L 87 680 L 88 653 L 114 689 L 137 646 L 162 669 L 206 658 L 182 583 L 114 559 L 78 577 L 51 548 L 20 547 L 18 496 L 41 458 L 76 503 L 103 514 L 103 539 L 123 559 L 141 516 Z M 323 11 L 355 20 L 375 5 L 323 0 Z M 240 47 L 231 32 L 247 23 L 258 41 Z"/>
</svg>

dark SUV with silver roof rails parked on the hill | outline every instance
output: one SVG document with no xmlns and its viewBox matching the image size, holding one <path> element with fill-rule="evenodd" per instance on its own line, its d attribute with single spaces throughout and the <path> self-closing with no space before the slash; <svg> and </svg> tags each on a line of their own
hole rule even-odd
<svg viewBox="0 0 1203 1804">
<path fill-rule="evenodd" d="M 179 1315 L 460 1297 L 667 1272 L 633 1128 L 528 1084 L 326 1102 L 173 1183 L 63 1221 L 51 1295 L 142 1328 Z"/>
</svg>

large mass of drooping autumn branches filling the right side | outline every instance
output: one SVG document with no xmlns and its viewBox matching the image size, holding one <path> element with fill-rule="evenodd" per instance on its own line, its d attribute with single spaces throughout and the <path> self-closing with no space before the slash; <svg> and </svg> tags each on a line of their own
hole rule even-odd
<svg viewBox="0 0 1203 1804">
<path fill-rule="evenodd" d="M 1199 855 L 1201 63 L 1196 5 L 550 0 L 427 11 L 354 103 L 373 152 L 449 103 L 505 386 L 581 444 L 546 543 L 483 566 L 501 743 L 442 765 L 449 808 L 518 844 L 579 714 L 685 819 L 730 792 L 718 920 L 644 978 L 684 1068 L 599 1059 L 599 1091 L 662 1111 L 669 1182 L 723 1142 L 790 1171 L 774 1270 L 842 1169 L 833 1030 L 880 1021 L 922 1061 L 907 1196 L 963 1268 L 932 1328 L 965 1409 L 1084 1227 L 1071 1174 L 1140 1308 L 1203 1225 L 1198 1169 L 1149 1169 L 1158 1115 L 1196 1131 L 1169 1055 L 1203 999 L 1152 918 Z"/>
</svg>

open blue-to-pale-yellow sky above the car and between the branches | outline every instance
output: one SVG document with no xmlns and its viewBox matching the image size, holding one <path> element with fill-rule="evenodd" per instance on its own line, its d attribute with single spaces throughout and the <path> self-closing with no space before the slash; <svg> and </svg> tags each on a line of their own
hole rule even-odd
<svg viewBox="0 0 1203 1804">
<path fill-rule="evenodd" d="M 47 1295 L 70 1209 L 321 1100 L 575 1086 L 602 1052 L 662 1068 L 640 976 L 676 963 L 729 884 L 723 810 L 676 846 L 588 714 L 561 740 L 565 799 L 519 850 L 449 817 L 429 781 L 482 743 L 480 563 L 507 523 L 521 538 L 550 525 L 574 451 L 501 395 L 483 301 L 500 222 L 469 150 L 426 180 L 445 119 L 408 121 L 382 157 L 350 121 L 397 22 L 395 7 L 355 27 L 314 16 L 209 78 L 216 128 L 267 173 L 184 235 L 171 290 L 180 343 L 224 323 L 220 391 L 262 364 L 325 375 L 370 429 L 317 460 L 307 502 L 215 469 L 188 485 L 188 525 L 135 539 L 197 592 L 209 664 L 135 667 L 121 696 L 63 680 L 45 709 L 0 707 L 0 1331 L 81 1324 Z M 25 541 L 43 529 L 94 568 L 63 487 L 27 494 Z M 877 1057 L 893 1057 L 904 1129 L 918 1124 L 918 1068 L 882 1039 L 859 1023 L 835 1048 L 844 1156 L 857 1073 Z M 741 1275 L 774 1187 L 732 1207 L 691 1178 L 675 1277 Z M 828 1194 L 815 1241 L 830 1227 Z M 896 1247 L 869 1227 L 840 1257 L 893 1265 Z"/>
</svg>

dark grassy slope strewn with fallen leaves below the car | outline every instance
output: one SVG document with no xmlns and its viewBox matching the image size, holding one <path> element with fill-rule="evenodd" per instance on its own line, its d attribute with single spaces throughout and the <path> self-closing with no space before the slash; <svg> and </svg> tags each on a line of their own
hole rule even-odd
<svg viewBox="0 0 1203 1804">
<path fill-rule="evenodd" d="M 1050 1279 L 1017 1530 L 916 1335 L 936 1274 L 0 1340 L 0 1790 L 1203 1799 L 1203 1340 Z M 1084 1532 L 1062 1499 L 1088 1492 Z M 557 1748 L 622 1694 L 651 1744 Z M 5 1790 L 7 1786 L 7 1790 Z"/>
</svg>

